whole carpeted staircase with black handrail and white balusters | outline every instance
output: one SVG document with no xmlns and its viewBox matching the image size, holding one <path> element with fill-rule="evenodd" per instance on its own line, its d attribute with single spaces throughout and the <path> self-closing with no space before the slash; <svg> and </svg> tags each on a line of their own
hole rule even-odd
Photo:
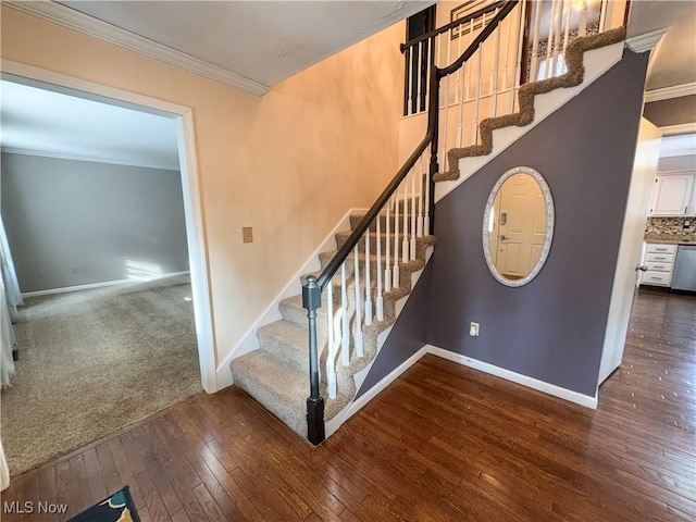
<svg viewBox="0 0 696 522">
<path fill-rule="evenodd" d="M 474 18 L 462 18 L 403 47 L 407 67 L 410 67 L 408 71 L 413 73 L 408 74 L 407 78 L 417 78 L 407 85 L 405 108 L 410 113 L 411 109 L 418 112 L 427 105 L 426 113 L 423 113 L 427 116 L 425 137 L 373 207 L 363 214 L 351 215 L 350 231 L 335 235 L 336 249 L 319 256 L 321 271 L 301 277 L 302 295 L 279 302 L 282 319 L 258 330 L 259 349 L 232 361 L 234 384 L 312 444 L 320 444 L 347 418 L 366 369 L 377 356 L 389 326 L 396 321 L 414 281 L 430 258 L 435 245 L 435 238 L 431 235 L 436 200 L 435 182 L 442 182 L 438 185 L 451 190 L 455 184 L 474 172 L 460 173 L 463 159 L 500 152 L 496 141 L 507 147 L 526 132 L 520 127 L 529 127 L 535 123 L 535 117 L 539 119 L 535 111 L 539 99 L 559 98 L 555 92 L 569 89 L 570 94 L 564 95 L 564 101 L 568 101 L 573 96 L 571 87 L 588 83 L 584 65 L 587 51 L 622 42 L 625 38 L 624 27 L 619 27 L 577 37 L 570 44 L 569 29 L 566 28 L 563 35 L 558 20 L 563 17 L 567 23 L 570 22 L 572 2 L 554 0 L 549 3 L 551 14 L 557 10 L 557 16 L 550 16 L 551 27 L 548 37 L 544 36 L 548 38 L 546 58 L 539 58 L 538 61 L 558 63 L 560 55 L 564 59 L 567 70 L 563 74 L 549 75 L 521 86 L 518 83 L 514 87 L 506 85 L 505 79 L 499 82 L 494 72 L 490 91 L 484 94 L 482 55 L 490 52 L 486 49 L 495 49 L 493 63 L 496 69 L 506 71 L 506 77 L 510 69 L 521 77 L 524 54 L 521 49 L 529 48 L 535 54 L 527 74 L 537 77 L 536 40 L 540 37 L 531 36 L 534 42 L 529 46 L 522 39 L 524 24 L 529 25 L 531 20 L 535 21 L 532 35 L 540 34 L 538 21 L 542 18 L 542 2 L 534 3 L 534 13 L 525 14 L 527 2 L 513 1 L 493 4 L 483 10 L 483 14 L 475 13 L 474 17 L 481 18 L 475 18 L 476 24 L 480 22 L 475 37 Z M 602 17 L 607 16 L 605 3 L 601 8 Z M 461 45 L 464 39 L 462 27 L 467 25 L 471 27 L 469 45 L 462 53 L 456 54 L 456 60 L 450 61 L 450 35 L 458 30 Z M 605 27 L 607 24 L 600 18 L 597 26 Z M 520 49 L 512 57 L 512 63 L 506 63 L 505 67 L 497 58 L 500 40 L 506 38 L 500 34 L 504 32 L 501 27 L 507 27 L 508 42 L 519 38 Z M 513 29 L 517 32 L 514 35 Z M 445 45 L 447 55 L 443 59 Z M 506 59 L 509 58 L 507 54 L 510 53 L 506 51 Z M 419 60 L 428 55 L 427 67 L 421 66 Z M 614 61 L 618 59 L 620 52 L 612 58 Z M 438 66 L 443 60 L 445 65 Z M 474 78 L 475 89 L 472 91 L 475 94 L 470 97 L 467 82 L 473 84 L 471 78 L 467 79 L 465 71 L 471 76 L 471 64 L 476 62 L 475 71 L 480 77 Z M 606 70 L 610 64 L 602 66 Z M 594 69 L 592 74 L 601 74 L 601 67 Z M 450 76 L 459 79 L 450 82 Z M 440 83 L 446 84 L 442 91 Z M 426 98 L 427 103 L 421 103 L 422 97 Z M 464 110 L 469 107 L 467 103 L 471 105 L 471 111 Z M 471 144 L 464 146 L 464 129 L 472 125 L 463 117 L 468 111 L 475 114 L 474 130 Z M 544 111 L 538 112 L 542 117 L 546 115 Z M 457 114 L 457 130 L 450 130 L 448 136 L 448 121 L 450 117 L 456 120 Z M 510 133 L 510 128 L 518 130 Z M 500 133 L 507 134 L 499 136 Z M 444 172 L 440 172 L 438 154 L 448 160 L 447 165 L 443 165 L 446 166 Z M 440 197 L 442 190 L 437 199 Z M 326 426 L 328 434 L 325 433 Z"/>
</svg>

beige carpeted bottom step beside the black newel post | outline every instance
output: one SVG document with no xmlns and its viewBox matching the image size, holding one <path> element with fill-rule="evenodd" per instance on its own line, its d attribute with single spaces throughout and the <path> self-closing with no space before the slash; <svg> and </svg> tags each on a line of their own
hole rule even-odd
<svg viewBox="0 0 696 522">
<path fill-rule="evenodd" d="M 264 350 L 256 350 L 233 361 L 232 375 L 236 386 L 307 438 L 307 370 L 300 371 Z"/>
</svg>

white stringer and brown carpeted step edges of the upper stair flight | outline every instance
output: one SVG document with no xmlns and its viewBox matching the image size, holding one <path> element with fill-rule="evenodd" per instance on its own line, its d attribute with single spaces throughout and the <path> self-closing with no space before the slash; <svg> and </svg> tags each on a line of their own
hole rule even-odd
<svg viewBox="0 0 696 522">
<path fill-rule="evenodd" d="M 599 37 L 601 37 L 601 39 Z M 526 111 L 527 114 L 532 114 L 532 120 L 529 120 L 529 116 L 525 115 L 520 119 L 520 113 L 484 120 L 481 123 L 481 134 L 484 145 L 451 149 L 448 152 L 449 164 L 456 161 L 458 167 L 435 175 L 435 181 L 437 182 L 435 184 L 435 201 L 439 201 L 464 183 L 482 166 L 505 151 L 616 65 L 623 57 L 624 38 L 625 28 L 621 27 L 608 33 L 575 40 L 579 42 L 576 49 L 582 51 L 582 65 L 580 67 L 576 66 L 575 71 L 573 71 L 571 63 L 569 63 L 569 73 L 563 76 L 522 86 L 519 92 L 521 104 L 525 103 L 522 101 L 524 97 L 526 97 L 527 100 L 532 98 L 533 111 Z M 596 45 L 602 40 L 606 41 L 606 39 L 609 39 L 609 41 L 618 39 L 620 41 L 598 48 L 589 46 L 589 49 L 583 48 L 580 45 L 582 40 L 591 45 Z M 572 45 L 570 47 L 572 47 Z M 563 78 L 567 78 L 569 75 L 571 80 L 579 82 L 577 85 L 572 87 L 566 87 L 563 85 Z M 518 119 L 520 121 L 518 121 Z"/>
</svg>

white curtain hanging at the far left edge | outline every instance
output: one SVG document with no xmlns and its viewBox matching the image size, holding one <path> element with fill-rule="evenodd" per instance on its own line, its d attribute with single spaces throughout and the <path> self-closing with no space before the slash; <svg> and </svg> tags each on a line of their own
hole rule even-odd
<svg viewBox="0 0 696 522">
<path fill-rule="evenodd" d="M 12 349 L 15 346 L 12 320 L 16 318 L 17 306 L 23 304 L 17 275 L 10 254 L 10 244 L 0 215 L 0 385 L 8 386 L 14 374 Z"/>
</svg>

